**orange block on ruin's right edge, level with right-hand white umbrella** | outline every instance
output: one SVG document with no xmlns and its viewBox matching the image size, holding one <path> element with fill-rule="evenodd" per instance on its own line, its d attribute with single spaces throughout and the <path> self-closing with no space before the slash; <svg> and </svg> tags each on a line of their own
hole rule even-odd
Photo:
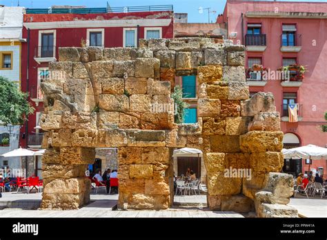
<svg viewBox="0 0 327 240">
<path fill-rule="evenodd" d="M 252 152 L 250 168 L 257 172 L 279 172 L 284 166 L 281 152 Z"/>
</svg>

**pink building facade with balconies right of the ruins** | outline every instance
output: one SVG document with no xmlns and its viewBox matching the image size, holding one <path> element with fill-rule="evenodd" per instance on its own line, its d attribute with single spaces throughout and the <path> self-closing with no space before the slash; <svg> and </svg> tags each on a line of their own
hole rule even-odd
<svg viewBox="0 0 327 240">
<path fill-rule="evenodd" d="M 251 94 L 273 92 L 285 133 L 284 148 L 307 144 L 327 147 L 327 134 L 319 127 L 327 111 L 327 3 L 228 0 L 217 23 L 227 23 L 228 38 L 246 46 Z M 264 81 L 261 69 L 253 68 L 255 64 L 271 73 L 288 66 L 290 81 L 276 79 L 273 74 Z M 304 74 L 300 66 L 306 68 Z M 293 103 L 297 122 L 290 122 L 288 113 Z M 305 159 L 285 160 L 285 172 L 308 170 L 327 177 L 326 160 L 310 165 Z"/>
</svg>

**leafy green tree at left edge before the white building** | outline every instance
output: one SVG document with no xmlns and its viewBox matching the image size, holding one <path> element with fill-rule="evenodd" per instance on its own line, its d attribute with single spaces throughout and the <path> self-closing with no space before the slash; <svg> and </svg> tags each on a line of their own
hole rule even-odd
<svg viewBox="0 0 327 240">
<path fill-rule="evenodd" d="M 8 124 L 21 125 L 27 120 L 34 108 L 28 102 L 28 94 L 19 90 L 16 83 L 0 77 L 0 121 Z"/>
</svg>

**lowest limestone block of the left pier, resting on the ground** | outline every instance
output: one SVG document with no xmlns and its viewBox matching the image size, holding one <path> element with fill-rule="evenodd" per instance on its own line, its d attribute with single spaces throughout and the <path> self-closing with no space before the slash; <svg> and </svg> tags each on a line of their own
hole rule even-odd
<svg viewBox="0 0 327 240">
<path fill-rule="evenodd" d="M 77 210 L 86 203 L 84 192 L 78 194 L 43 194 L 43 210 Z"/>
</svg>

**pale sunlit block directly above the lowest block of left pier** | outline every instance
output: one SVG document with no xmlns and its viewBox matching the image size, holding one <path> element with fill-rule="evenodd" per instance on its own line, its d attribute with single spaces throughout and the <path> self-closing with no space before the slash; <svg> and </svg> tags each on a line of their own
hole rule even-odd
<svg viewBox="0 0 327 240">
<path fill-rule="evenodd" d="M 54 179 L 44 187 L 44 194 L 78 194 L 85 192 L 84 178 Z"/>
</svg>

